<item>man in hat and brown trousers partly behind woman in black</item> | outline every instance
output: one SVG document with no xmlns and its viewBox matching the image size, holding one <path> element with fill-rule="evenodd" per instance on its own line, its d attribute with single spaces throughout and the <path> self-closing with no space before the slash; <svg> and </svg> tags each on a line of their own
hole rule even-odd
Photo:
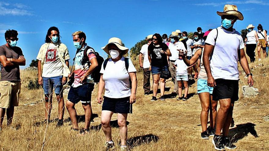
<svg viewBox="0 0 269 151">
<path fill-rule="evenodd" d="M 153 35 L 150 34 L 146 37 L 146 40 L 148 41 L 148 43 L 141 47 L 141 50 L 139 53 L 139 64 L 140 64 L 140 68 L 143 68 L 143 73 L 144 73 L 143 89 L 144 89 L 145 95 L 150 94 L 150 71 L 149 71 L 150 63 L 149 63 L 149 57 L 148 57 L 148 47 L 152 41 L 152 36 Z M 142 62 L 143 57 L 144 59 Z"/>
</svg>

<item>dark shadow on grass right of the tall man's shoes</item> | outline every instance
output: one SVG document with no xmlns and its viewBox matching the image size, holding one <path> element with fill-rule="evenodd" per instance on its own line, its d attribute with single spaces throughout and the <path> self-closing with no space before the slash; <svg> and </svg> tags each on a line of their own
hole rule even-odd
<svg viewBox="0 0 269 151">
<path fill-rule="evenodd" d="M 238 140 L 244 138 L 249 133 L 253 135 L 255 138 L 258 137 L 258 134 L 255 130 L 256 125 L 253 123 L 246 123 L 246 124 L 238 124 L 236 128 L 231 128 L 229 130 L 229 137 L 231 142 L 237 142 Z"/>
</svg>

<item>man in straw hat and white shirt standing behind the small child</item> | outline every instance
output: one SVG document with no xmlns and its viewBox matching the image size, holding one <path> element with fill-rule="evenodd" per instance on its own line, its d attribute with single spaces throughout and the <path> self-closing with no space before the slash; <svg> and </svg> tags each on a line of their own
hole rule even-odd
<svg viewBox="0 0 269 151">
<path fill-rule="evenodd" d="M 180 31 L 179 31 L 180 32 Z M 174 82 L 174 91 L 172 94 L 177 95 L 178 93 L 178 82 L 175 80 L 176 68 L 174 67 L 175 61 L 179 59 L 179 51 L 186 51 L 184 44 L 179 41 L 179 33 L 173 31 L 169 36 L 171 38 L 171 44 L 169 45 L 169 50 L 171 52 L 171 57 L 169 57 L 169 71 L 171 73 L 172 81 Z M 181 96 L 179 96 L 181 97 Z"/>
</svg>

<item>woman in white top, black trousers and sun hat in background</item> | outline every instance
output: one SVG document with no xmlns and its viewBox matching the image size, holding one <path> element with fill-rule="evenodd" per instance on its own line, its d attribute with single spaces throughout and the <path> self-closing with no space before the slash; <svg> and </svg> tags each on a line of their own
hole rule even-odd
<svg viewBox="0 0 269 151">
<path fill-rule="evenodd" d="M 247 27 L 247 30 L 248 30 L 247 37 L 245 39 L 246 53 L 250 58 L 250 62 L 255 61 L 255 49 L 256 49 L 257 43 L 259 42 L 257 32 L 253 29 L 254 29 L 254 26 L 252 24 L 249 24 L 249 26 Z"/>
</svg>

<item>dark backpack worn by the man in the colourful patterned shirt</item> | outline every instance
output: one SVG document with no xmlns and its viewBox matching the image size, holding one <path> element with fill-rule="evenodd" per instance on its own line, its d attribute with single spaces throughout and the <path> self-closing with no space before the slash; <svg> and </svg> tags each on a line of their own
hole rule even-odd
<svg viewBox="0 0 269 151">
<path fill-rule="evenodd" d="M 89 61 L 89 58 L 88 58 L 88 55 L 87 55 L 87 51 L 89 49 L 93 49 L 92 47 L 90 46 L 87 46 L 85 49 L 84 49 L 84 52 L 83 52 L 83 58 L 82 58 L 82 63 L 87 63 L 88 66 L 90 67 L 90 61 Z M 98 62 L 98 66 L 94 69 L 94 71 L 91 73 L 91 77 L 93 77 L 93 80 L 95 83 L 98 83 L 100 81 L 100 77 L 101 77 L 101 73 L 100 73 L 100 70 L 101 70 L 101 67 L 102 67 L 102 64 L 104 62 L 104 58 L 101 57 L 99 55 L 98 52 L 95 52 L 95 50 L 93 49 L 93 52 L 94 52 L 94 55 L 96 56 L 96 59 L 97 59 L 97 62 Z"/>
</svg>

